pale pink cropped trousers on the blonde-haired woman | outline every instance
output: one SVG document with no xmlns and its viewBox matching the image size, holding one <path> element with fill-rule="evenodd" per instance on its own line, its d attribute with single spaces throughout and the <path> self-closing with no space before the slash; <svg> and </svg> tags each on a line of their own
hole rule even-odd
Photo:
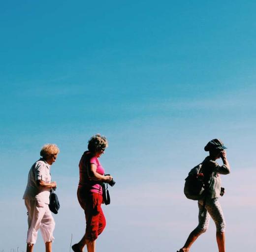
<svg viewBox="0 0 256 252">
<path fill-rule="evenodd" d="M 37 200 L 25 199 L 25 205 L 28 209 L 28 224 L 29 230 L 27 235 L 27 243 L 35 244 L 37 232 L 40 228 L 44 243 L 52 242 L 54 240 L 53 230 L 55 221 L 49 206 Z"/>
</svg>

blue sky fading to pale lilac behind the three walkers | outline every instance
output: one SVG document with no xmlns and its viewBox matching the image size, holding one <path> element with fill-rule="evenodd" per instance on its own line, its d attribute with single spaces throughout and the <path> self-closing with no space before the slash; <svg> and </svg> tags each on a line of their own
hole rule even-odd
<svg viewBox="0 0 256 252">
<path fill-rule="evenodd" d="M 71 233 L 80 239 L 78 162 L 95 133 L 109 140 L 100 160 L 117 181 L 99 251 L 180 248 L 197 221 L 184 178 L 216 137 L 232 168 L 221 199 L 227 250 L 252 250 L 255 8 L 236 0 L 2 2 L 0 250 L 25 250 L 22 195 L 45 143 L 61 150 L 52 166 L 62 203 L 54 250 L 69 251 Z M 206 246 L 216 251 L 213 222 L 191 252 Z"/>
</svg>

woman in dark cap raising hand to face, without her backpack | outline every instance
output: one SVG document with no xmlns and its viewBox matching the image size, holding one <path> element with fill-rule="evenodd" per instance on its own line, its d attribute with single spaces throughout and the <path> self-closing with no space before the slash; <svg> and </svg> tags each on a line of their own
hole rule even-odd
<svg viewBox="0 0 256 252">
<path fill-rule="evenodd" d="M 185 245 L 178 252 L 189 252 L 194 241 L 204 233 L 208 226 L 210 217 L 216 225 L 216 238 L 219 252 L 225 252 L 225 221 L 221 205 L 218 198 L 221 195 L 221 177 L 220 174 L 229 174 L 230 166 L 226 158 L 227 149 L 220 139 L 213 139 L 207 143 L 204 150 L 209 152 L 202 162 L 202 171 L 205 181 L 209 185 L 207 187 L 207 195 L 205 199 L 198 200 L 199 223 L 197 227 L 190 233 Z M 216 160 L 222 158 L 223 165 L 219 165 Z"/>
</svg>

